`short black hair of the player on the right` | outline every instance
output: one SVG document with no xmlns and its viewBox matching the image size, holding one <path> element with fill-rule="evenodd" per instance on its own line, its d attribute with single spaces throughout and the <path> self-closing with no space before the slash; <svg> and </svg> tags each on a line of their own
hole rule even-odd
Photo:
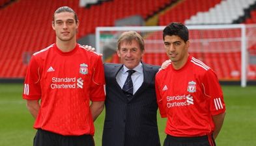
<svg viewBox="0 0 256 146">
<path fill-rule="evenodd" d="M 163 30 L 163 39 L 165 36 L 179 36 L 184 42 L 188 41 L 188 28 L 179 22 L 170 23 Z"/>
</svg>

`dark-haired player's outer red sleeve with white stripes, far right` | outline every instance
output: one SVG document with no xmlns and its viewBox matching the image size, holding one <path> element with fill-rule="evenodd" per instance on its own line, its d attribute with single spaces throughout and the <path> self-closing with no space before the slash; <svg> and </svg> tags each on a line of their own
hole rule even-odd
<svg viewBox="0 0 256 146">
<path fill-rule="evenodd" d="M 203 78 L 205 95 L 210 97 L 210 112 L 218 115 L 225 112 L 225 103 L 218 77 L 212 69 L 208 70 Z"/>
</svg>

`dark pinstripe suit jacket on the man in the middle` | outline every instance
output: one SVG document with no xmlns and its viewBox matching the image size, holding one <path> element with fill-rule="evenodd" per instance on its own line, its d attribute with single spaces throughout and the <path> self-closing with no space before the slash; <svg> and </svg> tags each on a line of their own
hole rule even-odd
<svg viewBox="0 0 256 146">
<path fill-rule="evenodd" d="M 155 75 L 159 66 L 143 64 L 144 81 L 128 101 L 117 83 L 122 64 L 104 64 L 106 117 L 102 146 L 160 146 Z"/>
</svg>

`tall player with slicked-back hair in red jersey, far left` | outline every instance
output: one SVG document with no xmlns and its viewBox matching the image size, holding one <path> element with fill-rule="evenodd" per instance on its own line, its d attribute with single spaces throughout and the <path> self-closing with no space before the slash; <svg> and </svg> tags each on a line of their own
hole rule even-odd
<svg viewBox="0 0 256 146">
<path fill-rule="evenodd" d="M 93 121 L 104 109 L 101 56 L 76 43 L 79 21 L 68 6 L 53 14 L 56 43 L 33 54 L 23 99 L 35 117 L 34 146 L 94 146 Z"/>
</svg>

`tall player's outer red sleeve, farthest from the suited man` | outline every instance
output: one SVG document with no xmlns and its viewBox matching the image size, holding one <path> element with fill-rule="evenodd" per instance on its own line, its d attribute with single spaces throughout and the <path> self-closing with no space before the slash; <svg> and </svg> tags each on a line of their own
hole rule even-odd
<svg viewBox="0 0 256 146">
<path fill-rule="evenodd" d="M 31 57 L 24 81 L 23 99 L 37 100 L 41 97 L 40 67 L 35 56 Z"/>
</svg>

